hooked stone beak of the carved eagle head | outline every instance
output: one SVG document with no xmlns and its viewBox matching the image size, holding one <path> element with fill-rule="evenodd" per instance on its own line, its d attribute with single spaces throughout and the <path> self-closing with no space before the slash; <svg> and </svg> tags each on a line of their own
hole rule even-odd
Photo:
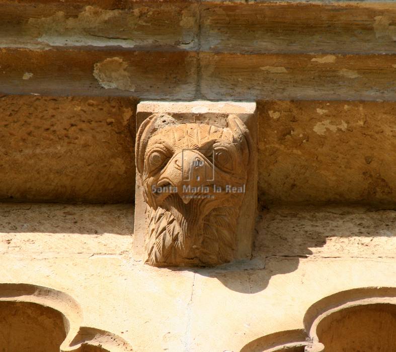
<svg viewBox="0 0 396 352">
<path fill-rule="evenodd" d="M 172 186 L 184 204 L 202 193 L 203 186 L 213 184 L 213 164 L 199 150 L 184 149 L 175 154 L 162 171 L 157 187 Z M 162 197 L 161 201 L 166 197 Z"/>
</svg>

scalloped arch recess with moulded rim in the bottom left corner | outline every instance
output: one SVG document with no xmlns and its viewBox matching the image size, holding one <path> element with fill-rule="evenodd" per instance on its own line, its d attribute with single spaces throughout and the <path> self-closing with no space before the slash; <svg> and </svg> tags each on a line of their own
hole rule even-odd
<svg viewBox="0 0 396 352">
<path fill-rule="evenodd" d="M 80 305 L 69 295 L 28 284 L 0 284 L 0 350 L 129 352 L 108 331 L 81 326 Z"/>
</svg>

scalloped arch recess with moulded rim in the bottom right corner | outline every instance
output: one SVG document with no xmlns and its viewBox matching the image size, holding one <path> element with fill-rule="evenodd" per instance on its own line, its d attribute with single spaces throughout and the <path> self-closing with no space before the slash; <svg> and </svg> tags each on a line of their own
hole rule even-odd
<svg viewBox="0 0 396 352">
<path fill-rule="evenodd" d="M 259 337 L 241 352 L 396 351 L 396 288 L 338 292 L 312 304 L 303 322 L 305 329 Z"/>
</svg>

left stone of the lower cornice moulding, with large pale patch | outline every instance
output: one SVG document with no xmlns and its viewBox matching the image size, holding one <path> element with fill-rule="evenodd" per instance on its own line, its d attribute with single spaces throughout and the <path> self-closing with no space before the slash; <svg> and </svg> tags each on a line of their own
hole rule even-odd
<svg viewBox="0 0 396 352">
<path fill-rule="evenodd" d="M 183 51 L 3 49 L 0 92 L 192 99 L 196 57 Z"/>
</svg>

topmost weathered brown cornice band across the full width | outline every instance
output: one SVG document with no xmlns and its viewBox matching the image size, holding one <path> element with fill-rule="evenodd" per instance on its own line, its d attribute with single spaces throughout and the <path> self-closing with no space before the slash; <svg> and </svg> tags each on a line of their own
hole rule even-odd
<svg viewBox="0 0 396 352">
<path fill-rule="evenodd" d="M 392 1 L 0 1 L 0 48 L 395 53 Z M 348 45 L 345 45 L 348 43 Z"/>
</svg>

